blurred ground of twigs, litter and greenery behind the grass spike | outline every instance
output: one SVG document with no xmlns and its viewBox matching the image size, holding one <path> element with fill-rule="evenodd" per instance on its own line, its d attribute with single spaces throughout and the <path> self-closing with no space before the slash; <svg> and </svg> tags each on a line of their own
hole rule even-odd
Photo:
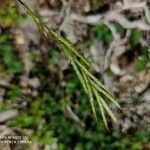
<svg viewBox="0 0 150 150">
<path fill-rule="evenodd" d="M 150 150 L 150 1 L 22 0 L 75 45 L 120 103 L 96 122 L 62 50 L 20 3 L 0 1 L 0 150 Z M 101 115 L 99 115 L 100 119 Z"/>
</svg>

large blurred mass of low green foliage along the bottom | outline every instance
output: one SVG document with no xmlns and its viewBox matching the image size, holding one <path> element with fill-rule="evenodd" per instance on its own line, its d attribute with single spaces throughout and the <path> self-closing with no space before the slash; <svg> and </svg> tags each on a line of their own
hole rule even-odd
<svg viewBox="0 0 150 150">
<path fill-rule="evenodd" d="M 41 71 L 40 67 L 37 71 Z M 102 121 L 97 126 L 97 123 L 93 120 L 93 116 L 87 108 L 88 99 L 84 96 L 81 87 L 75 85 L 76 88 L 73 92 L 76 95 L 75 102 L 70 101 L 68 103 L 65 97 L 62 98 L 67 87 L 62 93 L 61 87 L 52 83 L 51 79 L 46 78 L 46 75 L 38 77 L 42 80 L 42 83 L 51 83 L 51 87 L 45 85 L 45 87 L 42 87 L 44 88 L 42 94 L 36 98 L 29 97 L 26 100 L 27 107 L 25 110 L 22 109 L 20 115 L 8 123 L 10 127 L 17 129 L 33 130 L 34 132 L 29 137 L 32 141 L 36 140 L 42 144 L 50 145 L 53 139 L 57 138 L 59 150 L 69 148 L 77 150 L 141 150 L 142 144 L 149 140 L 149 133 L 144 130 L 140 130 L 133 137 L 126 137 L 116 131 L 107 132 L 102 125 Z M 69 82 L 75 83 L 74 77 L 72 73 Z M 54 92 L 56 89 L 57 92 Z M 78 92 L 78 89 L 81 89 L 80 92 Z M 72 92 L 68 94 L 72 94 Z M 13 97 L 13 93 L 10 96 Z M 78 99 L 81 100 L 77 101 Z M 64 104 L 62 105 L 62 103 Z M 80 126 L 65 115 L 64 110 L 68 105 L 76 105 L 74 112 L 80 118 L 85 117 L 86 127 Z"/>
</svg>

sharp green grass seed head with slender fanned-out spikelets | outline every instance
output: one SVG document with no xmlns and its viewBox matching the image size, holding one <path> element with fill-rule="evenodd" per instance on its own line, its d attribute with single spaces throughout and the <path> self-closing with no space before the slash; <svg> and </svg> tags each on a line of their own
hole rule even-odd
<svg viewBox="0 0 150 150">
<path fill-rule="evenodd" d="M 80 54 L 79 51 L 74 48 L 74 46 L 68 40 L 63 38 L 59 33 L 55 32 L 51 27 L 48 27 L 26 4 L 24 4 L 21 0 L 18 1 L 24 7 L 26 13 L 32 17 L 39 30 L 46 36 L 51 36 L 58 48 L 64 51 L 66 57 L 72 64 L 84 88 L 84 91 L 89 97 L 92 111 L 96 120 L 98 119 L 98 114 L 101 113 L 103 122 L 107 127 L 107 113 L 111 119 L 116 122 L 117 119 L 106 103 L 106 100 L 110 100 L 118 108 L 120 108 L 120 106 L 110 92 L 105 88 L 105 86 L 89 72 L 90 63 L 88 60 L 82 54 Z"/>
</svg>

